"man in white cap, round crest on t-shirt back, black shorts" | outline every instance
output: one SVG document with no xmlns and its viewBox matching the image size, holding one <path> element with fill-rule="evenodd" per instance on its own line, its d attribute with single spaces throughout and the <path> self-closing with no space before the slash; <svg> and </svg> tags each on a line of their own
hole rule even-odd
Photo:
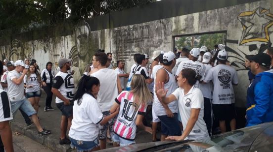
<svg viewBox="0 0 273 152">
<path fill-rule="evenodd" d="M 232 85 L 238 84 L 238 76 L 236 70 L 226 65 L 227 52 L 221 50 L 217 55 L 218 65 L 211 68 L 204 83 L 213 82 L 212 108 L 214 116 L 219 120 L 221 132 L 226 132 L 226 121 L 230 121 L 230 129 L 236 128 L 235 121 L 235 96 Z"/>
</svg>

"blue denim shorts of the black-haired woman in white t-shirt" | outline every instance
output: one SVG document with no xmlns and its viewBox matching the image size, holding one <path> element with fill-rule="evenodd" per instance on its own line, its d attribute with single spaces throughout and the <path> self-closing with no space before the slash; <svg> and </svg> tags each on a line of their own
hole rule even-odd
<svg viewBox="0 0 273 152">
<path fill-rule="evenodd" d="M 82 140 L 76 140 L 70 137 L 71 141 L 71 148 L 77 149 L 77 152 L 87 152 L 92 150 L 95 147 L 99 146 L 99 142 L 97 139 L 94 141 L 82 141 Z"/>
</svg>

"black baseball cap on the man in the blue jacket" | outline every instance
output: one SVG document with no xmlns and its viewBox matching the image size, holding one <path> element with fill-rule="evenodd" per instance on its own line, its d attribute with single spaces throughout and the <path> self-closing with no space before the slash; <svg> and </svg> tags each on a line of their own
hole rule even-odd
<svg viewBox="0 0 273 152">
<path fill-rule="evenodd" d="M 260 65 L 268 68 L 270 68 L 271 65 L 271 58 L 265 53 L 259 53 L 255 56 L 249 55 L 246 56 L 246 59 L 249 61 L 255 61 L 256 63 L 259 63 Z"/>
</svg>

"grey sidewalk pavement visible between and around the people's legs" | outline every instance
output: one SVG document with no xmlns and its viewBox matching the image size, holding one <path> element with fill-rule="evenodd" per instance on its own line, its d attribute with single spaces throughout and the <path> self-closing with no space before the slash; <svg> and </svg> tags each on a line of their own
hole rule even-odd
<svg viewBox="0 0 273 152">
<path fill-rule="evenodd" d="M 32 140 L 50 148 L 54 152 L 72 152 L 72 149 L 69 145 L 59 145 L 59 135 L 60 135 L 60 121 L 61 121 L 61 112 L 56 107 L 55 97 L 52 99 L 51 106 L 55 109 L 54 111 L 44 111 L 46 100 L 46 93 L 42 91 L 42 96 L 40 98 L 40 108 L 38 112 L 38 116 L 40 117 L 40 122 L 42 127 L 49 129 L 52 131 L 51 134 L 46 136 L 38 136 L 38 131 L 33 124 L 29 129 L 26 129 L 26 123 L 21 115 L 21 112 L 18 110 L 16 116 L 13 118 L 13 122 L 11 122 L 11 128 L 14 131 L 25 135 Z M 139 131 L 137 133 L 136 142 L 137 143 L 147 143 L 151 142 L 151 134 Z M 107 148 L 111 148 L 112 145 L 107 144 Z"/>
</svg>

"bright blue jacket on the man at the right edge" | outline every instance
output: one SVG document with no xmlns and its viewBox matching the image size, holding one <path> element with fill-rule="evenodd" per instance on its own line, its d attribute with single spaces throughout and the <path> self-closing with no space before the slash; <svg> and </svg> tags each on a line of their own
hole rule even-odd
<svg viewBox="0 0 273 152">
<path fill-rule="evenodd" d="M 246 100 L 246 126 L 273 121 L 273 70 L 255 76 Z"/>
</svg>

